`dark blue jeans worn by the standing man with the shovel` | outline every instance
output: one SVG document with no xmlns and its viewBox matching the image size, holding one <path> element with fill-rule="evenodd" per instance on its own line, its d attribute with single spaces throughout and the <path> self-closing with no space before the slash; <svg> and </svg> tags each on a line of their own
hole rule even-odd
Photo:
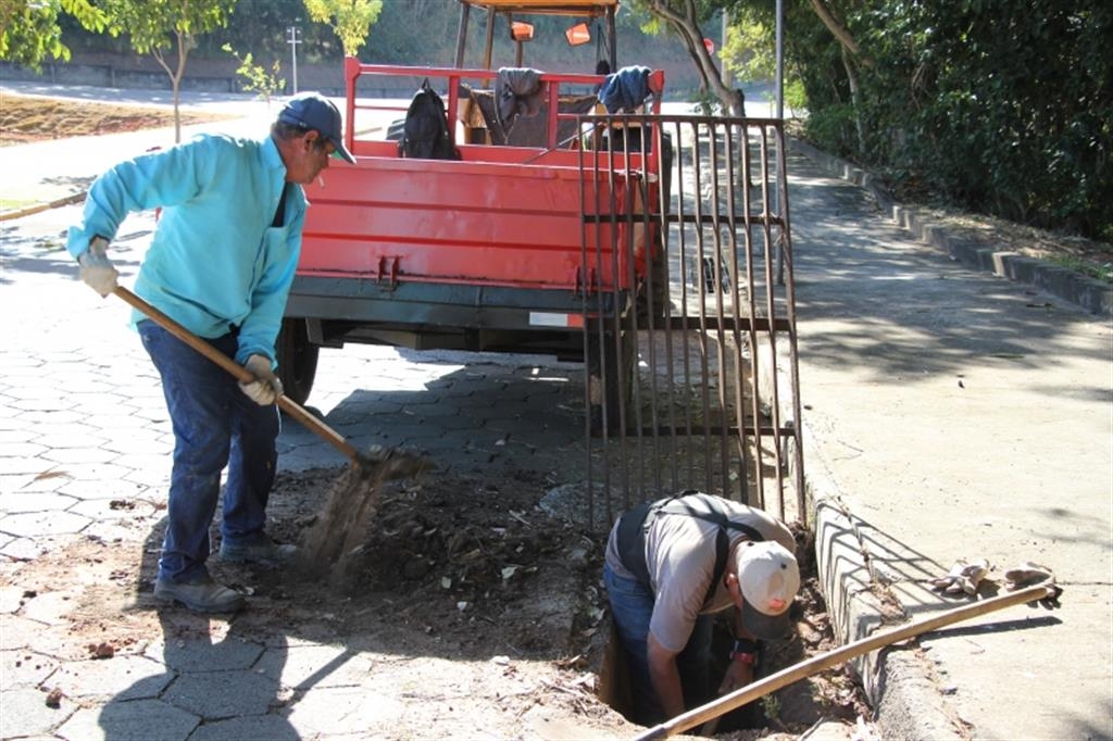
<svg viewBox="0 0 1113 741">
<path fill-rule="evenodd" d="M 235 545 L 265 537 L 267 500 L 278 463 L 278 407 L 249 399 L 227 370 L 154 322 L 140 322 L 138 329 L 162 377 L 174 427 L 174 468 L 158 577 L 196 581 L 208 575 L 209 525 L 226 465 L 221 536 Z M 208 342 L 229 357 L 236 354 L 234 335 Z"/>
</svg>

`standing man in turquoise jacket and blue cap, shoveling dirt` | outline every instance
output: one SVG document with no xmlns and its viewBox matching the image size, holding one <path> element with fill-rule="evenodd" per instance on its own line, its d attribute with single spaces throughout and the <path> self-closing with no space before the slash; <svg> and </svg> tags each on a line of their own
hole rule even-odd
<svg viewBox="0 0 1113 741">
<path fill-rule="evenodd" d="M 238 384 L 154 322 L 132 318 L 161 376 L 175 436 L 159 600 L 198 612 L 244 606 L 243 595 L 205 565 L 226 465 L 221 559 L 293 555 L 265 531 L 283 393 L 275 339 L 302 247 L 306 200 L 298 184 L 312 182 L 333 156 L 355 161 L 341 113 L 326 98 L 303 93 L 264 139 L 201 135 L 112 167 L 89 188 L 81 224 L 70 228 L 67 249 L 81 279 L 107 296 L 118 277 L 107 248 L 120 224 L 130 211 L 161 208 L 135 292 L 256 377 Z"/>
</svg>

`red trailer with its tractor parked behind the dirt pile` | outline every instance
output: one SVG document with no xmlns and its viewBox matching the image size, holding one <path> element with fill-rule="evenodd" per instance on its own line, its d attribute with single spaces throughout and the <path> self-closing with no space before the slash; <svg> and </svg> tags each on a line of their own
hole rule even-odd
<svg viewBox="0 0 1113 741">
<path fill-rule="evenodd" d="M 513 122 L 495 98 L 506 68 L 492 66 L 494 39 L 503 36 L 522 69 L 523 46 L 542 26 L 530 19 L 546 18 L 552 28 L 556 16 L 571 23 L 569 43 L 603 34 L 605 43 L 584 48 L 605 49 L 618 71 L 617 8 L 618 0 L 462 0 L 455 67 L 345 61 L 345 137 L 356 164 L 331 167 L 323 185 L 306 188 L 312 207 L 278 342 L 290 398 L 308 397 L 319 347 L 372 343 L 582 360 L 585 324 L 602 323 L 608 337 L 623 334 L 614 319 L 644 288 L 646 249 L 661 244 L 648 215 L 659 210 L 663 147 L 649 136 L 643 142 L 643 129 L 630 122 L 580 118 L 604 112 L 597 91 L 608 78 L 593 73 L 594 53 L 577 62 L 589 72 L 538 70 L 536 110 Z M 483 12 L 485 66 L 464 68 L 469 23 Z M 457 160 L 403 157 L 398 121 L 383 121 L 406 105 L 361 93 L 400 85 L 413 91 L 425 79 L 443 96 Z M 663 75 L 649 73 L 648 87 L 640 111 L 659 112 Z M 632 337 L 617 345 L 615 356 L 626 355 L 617 367 L 628 373 Z M 598 375 L 601 364 L 588 359 Z M 604 363 L 615 376 L 615 360 Z"/>
</svg>

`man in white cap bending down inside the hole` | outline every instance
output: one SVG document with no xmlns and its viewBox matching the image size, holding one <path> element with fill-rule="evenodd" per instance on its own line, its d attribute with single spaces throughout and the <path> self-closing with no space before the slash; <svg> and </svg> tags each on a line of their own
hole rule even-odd
<svg viewBox="0 0 1113 741">
<path fill-rule="evenodd" d="M 626 512 L 603 581 L 629 660 L 634 722 L 653 725 L 710 699 L 713 614 L 735 609 L 720 694 L 754 681 L 757 640 L 785 638 L 800 587 L 796 543 L 761 510 L 686 492 Z"/>
</svg>

